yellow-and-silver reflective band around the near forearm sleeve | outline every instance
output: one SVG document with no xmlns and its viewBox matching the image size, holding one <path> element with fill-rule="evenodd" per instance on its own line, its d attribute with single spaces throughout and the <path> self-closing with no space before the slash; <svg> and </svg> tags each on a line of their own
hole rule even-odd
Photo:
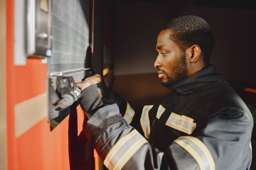
<svg viewBox="0 0 256 170">
<path fill-rule="evenodd" d="M 121 170 L 132 155 L 147 142 L 137 130 L 132 130 L 119 139 L 110 152 L 108 152 L 103 162 L 104 165 L 110 170 Z"/>
</svg>

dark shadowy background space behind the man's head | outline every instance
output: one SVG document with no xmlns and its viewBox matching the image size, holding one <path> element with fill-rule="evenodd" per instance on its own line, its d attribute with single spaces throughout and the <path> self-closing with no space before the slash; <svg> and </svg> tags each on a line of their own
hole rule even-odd
<svg viewBox="0 0 256 170">
<path fill-rule="evenodd" d="M 215 46 L 210 63 L 218 66 L 218 71 L 224 73 L 246 104 L 256 107 L 256 93 L 245 91 L 245 88 L 256 89 L 256 11 L 251 1 L 118 0 L 111 3 L 115 75 L 112 89 L 132 105 L 154 104 L 170 93 L 156 80 L 153 64 L 157 57 L 157 35 L 172 18 L 197 15 L 213 31 Z"/>
</svg>

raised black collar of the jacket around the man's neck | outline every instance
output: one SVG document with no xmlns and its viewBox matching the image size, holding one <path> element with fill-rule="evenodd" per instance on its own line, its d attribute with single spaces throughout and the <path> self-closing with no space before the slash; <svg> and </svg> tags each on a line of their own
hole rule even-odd
<svg viewBox="0 0 256 170">
<path fill-rule="evenodd" d="M 216 71 L 216 65 L 210 65 L 207 68 L 195 73 L 173 86 L 169 87 L 171 91 L 180 93 L 183 95 L 191 93 L 193 90 L 206 86 L 211 83 L 223 82 L 225 77 L 222 73 Z"/>
</svg>

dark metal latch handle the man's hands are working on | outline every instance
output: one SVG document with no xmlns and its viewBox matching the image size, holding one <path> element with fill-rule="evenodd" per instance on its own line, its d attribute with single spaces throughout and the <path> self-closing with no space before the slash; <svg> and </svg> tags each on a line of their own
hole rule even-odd
<svg viewBox="0 0 256 170">
<path fill-rule="evenodd" d="M 94 75 L 92 69 L 85 70 L 82 81 Z M 67 115 L 79 105 L 81 90 L 76 85 L 74 78 L 67 75 L 50 76 L 48 80 L 48 120 L 53 130 Z"/>
</svg>

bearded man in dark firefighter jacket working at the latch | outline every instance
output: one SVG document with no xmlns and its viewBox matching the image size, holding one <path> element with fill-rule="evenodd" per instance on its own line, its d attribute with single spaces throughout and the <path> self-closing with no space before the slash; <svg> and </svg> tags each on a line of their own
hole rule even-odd
<svg viewBox="0 0 256 170">
<path fill-rule="evenodd" d="M 173 93 L 144 106 L 140 124 L 100 75 L 77 85 L 88 121 L 83 132 L 110 170 L 249 170 L 253 118 L 216 66 L 205 20 L 171 20 L 157 37 L 155 68 Z M 134 119 L 133 119 L 134 118 Z M 141 135 L 142 134 L 142 135 Z"/>
</svg>

